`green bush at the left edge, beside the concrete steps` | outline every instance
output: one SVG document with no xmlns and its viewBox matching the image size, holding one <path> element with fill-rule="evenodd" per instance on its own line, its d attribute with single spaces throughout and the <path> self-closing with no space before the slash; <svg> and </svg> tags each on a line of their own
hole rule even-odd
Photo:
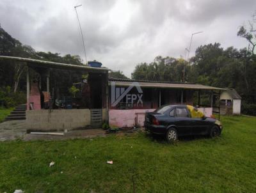
<svg viewBox="0 0 256 193">
<path fill-rule="evenodd" d="M 14 93 L 10 86 L 0 88 L 0 106 L 10 108 L 26 103 L 26 94 L 20 91 Z"/>
</svg>

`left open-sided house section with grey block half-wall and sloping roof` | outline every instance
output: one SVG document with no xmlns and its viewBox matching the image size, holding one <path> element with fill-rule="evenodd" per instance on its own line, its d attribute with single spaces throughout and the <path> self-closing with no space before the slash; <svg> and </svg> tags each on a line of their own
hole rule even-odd
<svg viewBox="0 0 256 193">
<path fill-rule="evenodd" d="M 27 68 L 28 130 L 64 130 L 102 127 L 108 121 L 108 68 L 54 63 L 29 58 L 0 56 Z M 72 74 L 74 79 L 70 79 Z M 79 76 L 77 76 L 77 74 Z M 86 74 L 88 78 L 82 79 Z M 56 81 L 61 79 L 61 82 Z M 73 82 L 72 82 L 73 81 Z M 70 86 L 79 83 L 76 97 Z"/>
</svg>

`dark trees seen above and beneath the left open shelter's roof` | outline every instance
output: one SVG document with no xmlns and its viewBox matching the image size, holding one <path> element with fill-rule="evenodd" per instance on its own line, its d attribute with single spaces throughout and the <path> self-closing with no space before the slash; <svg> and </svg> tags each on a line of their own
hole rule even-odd
<svg viewBox="0 0 256 193">
<path fill-rule="evenodd" d="M 12 38 L 12 36 L 6 33 L 1 26 L 0 55 L 40 59 L 57 63 L 68 63 L 72 65 L 83 65 L 82 59 L 77 55 L 72 56 L 67 54 L 65 56 L 61 56 L 59 53 L 36 52 L 36 50 L 31 46 L 22 45 L 19 40 Z M 14 61 L 0 59 L 0 87 L 11 86 L 13 91 L 16 92 L 18 88 L 20 90 L 24 90 L 24 88 L 26 88 L 26 75 L 24 73 L 26 72 L 26 67 L 22 64 L 22 62 L 15 61 L 14 65 L 13 63 Z M 68 77 L 69 75 L 67 72 L 63 74 L 63 72 L 59 72 L 58 70 L 52 70 L 52 74 L 57 77 L 57 82 L 60 82 L 63 77 Z M 73 76 L 75 75 L 73 74 Z"/>
</svg>

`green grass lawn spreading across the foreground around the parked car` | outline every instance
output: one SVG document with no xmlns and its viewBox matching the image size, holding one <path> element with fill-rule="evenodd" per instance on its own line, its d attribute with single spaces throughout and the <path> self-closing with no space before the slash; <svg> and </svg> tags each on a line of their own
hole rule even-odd
<svg viewBox="0 0 256 193">
<path fill-rule="evenodd" d="M 133 192 L 132 176 L 135 192 L 255 192 L 256 118 L 221 121 L 218 139 L 175 144 L 145 133 L 3 142 L 0 192 Z"/>
</svg>

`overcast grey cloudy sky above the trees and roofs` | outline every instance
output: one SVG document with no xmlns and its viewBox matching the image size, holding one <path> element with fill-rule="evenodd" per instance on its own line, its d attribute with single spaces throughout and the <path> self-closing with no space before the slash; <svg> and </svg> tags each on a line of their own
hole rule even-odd
<svg viewBox="0 0 256 193">
<path fill-rule="evenodd" d="M 131 76 L 134 66 L 156 56 L 184 56 L 193 36 L 196 47 L 220 42 L 246 47 L 236 36 L 256 11 L 255 0 L 1 0 L 0 24 L 14 38 L 36 50 L 79 54 Z"/>
</svg>

